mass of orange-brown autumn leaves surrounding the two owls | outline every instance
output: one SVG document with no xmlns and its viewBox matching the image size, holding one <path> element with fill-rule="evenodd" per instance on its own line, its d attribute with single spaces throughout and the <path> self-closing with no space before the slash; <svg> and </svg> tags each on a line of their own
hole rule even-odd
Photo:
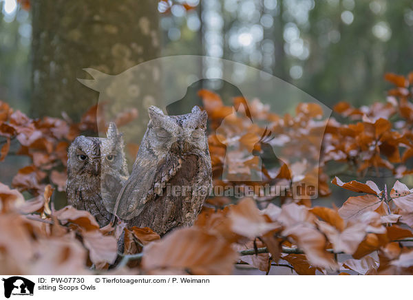
<svg viewBox="0 0 413 300">
<path fill-rule="evenodd" d="M 87 211 L 71 206 L 56 210 L 51 202 L 56 190 L 65 190 L 70 142 L 82 132 L 96 130 L 97 106 L 75 123 L 67 117 L 32 119 L 0 102 L 0 160 L 18 155 L 32 162 L 18 171 L 12 186 L 0 183 L 0 272 L 230 275 L 235 265 L 248 264 L 266 273 L 290 268 L 299 275 L 412 274 L 413 189 L 401 181 L 413 173 L 413 73 L 386 74 L 385 79 L 394 84 L 386 102 L 359 108 L 339 103 L 334 107 L 338 118 L 330 118 L 326 127 L 319 121 L 321 107 L 310 103 L 299 105 L 295 116 L 273 114 L 259 100 L 248 103 L 249 114 L 271 127 L 236 116 L 228 119 L 232 107 L 201 90 L 210 129 L 218 129 L 224 118 L 231 125 L 225 134 L 209 133 L 215 185 L 235 184 L 221 178 L 227 138 L 262 153 L 271 132 L 296 157 L 318 157 L 315 137 L 326 128 L 317 169 L 302 161 L 289 167 L 264 163 L 258 171 L 264 183 L 293 184 L 306 178 L 317 182 L 319 197 L 330 195 L 332 185 L 352 196 L 339 208 L 312 206 L 310 199 L 294 200 L 288 194 L 212 197 L 193 226 L 176 228 L 162 238 L 151 228 L 127 228 L 121 221 L 99 228 Z M 234 98 L 233 105 L 245 101 Z M 127 125 L 135 116 L 136 112 L 125 112 L 116 123 Z M 306 142 L 296 147 L 289 144 L 292 136 Z M 10 153 L 14 140 L 19 150 Z M 128 149 L 134 156 L 136 147 Z M 237 173 L 248 173 L 239 166 L 256 169 L 256 158 L 239 156 L 230 163 Z M 340 180 L 343 171 L 354 174 L 354 180 Z M 355 180 L 368 175 L 388 176 L 392 185 Z M 22 193 L 31 196 L 25 200 Z M 123 232 L 125 250 L 118 253 Z"/>
</svg>

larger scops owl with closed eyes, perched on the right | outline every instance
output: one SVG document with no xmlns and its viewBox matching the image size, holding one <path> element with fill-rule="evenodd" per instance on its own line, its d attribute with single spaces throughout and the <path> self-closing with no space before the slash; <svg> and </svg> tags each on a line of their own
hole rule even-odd
<svg viewBox="0 0 413 300">
<path fill-rule="evenodd" d="M 116 201 L 116 215 L 128 226 L 164 235 L 189 226 L 212 188 L 207 112 L 166 116 L 151 106 L 131 175 Z"/>
</svg>

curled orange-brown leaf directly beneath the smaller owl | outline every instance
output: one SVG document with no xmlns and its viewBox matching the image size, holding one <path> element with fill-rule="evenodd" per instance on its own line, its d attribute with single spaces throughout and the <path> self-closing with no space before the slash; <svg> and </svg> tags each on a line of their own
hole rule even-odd
<svg viewBox="0 0 413 300">
<path fill-rule="evenodd" d="M 96 219 L 87 211 L 78 211 L 73 206 L 66 206 L 54 215 L 61 221 L 61 223 L 72 223 L 80 226 L 85 231 L 94 231 L 99 229 L 99 224 Z"/>
</svg>

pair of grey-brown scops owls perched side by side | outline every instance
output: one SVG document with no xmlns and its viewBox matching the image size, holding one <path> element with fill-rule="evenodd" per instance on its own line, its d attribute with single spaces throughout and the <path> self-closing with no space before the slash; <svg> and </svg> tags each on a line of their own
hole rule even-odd
<svg viewBox="0 0 413 300">
<path fill-rule="evenodd" d="M 127 178 L 122 136 L 111 123 L 107 138 L 79 136 L 69 149 L 67 199 L 100 224 L 114 213 L 128 226 L 164 235 L 189 226 L 212 187 L 207 113 L 166 116 L 151 106 L 149 124 Z"/>
</svg>

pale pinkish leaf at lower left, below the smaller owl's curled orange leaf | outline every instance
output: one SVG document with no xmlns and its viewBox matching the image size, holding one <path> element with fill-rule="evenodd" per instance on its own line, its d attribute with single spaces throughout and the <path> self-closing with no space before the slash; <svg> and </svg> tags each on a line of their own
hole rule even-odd
<svg viewBox="0 0 413 300">
<path fill-rule="evenodd" d="M 113 264 L 118 256 L 118 243 L 112 235 L 103 235 L 100 231 L 83 231 L 83 244 L 89 250 L 89 257 L 95 265 Z"/>
</svg>

